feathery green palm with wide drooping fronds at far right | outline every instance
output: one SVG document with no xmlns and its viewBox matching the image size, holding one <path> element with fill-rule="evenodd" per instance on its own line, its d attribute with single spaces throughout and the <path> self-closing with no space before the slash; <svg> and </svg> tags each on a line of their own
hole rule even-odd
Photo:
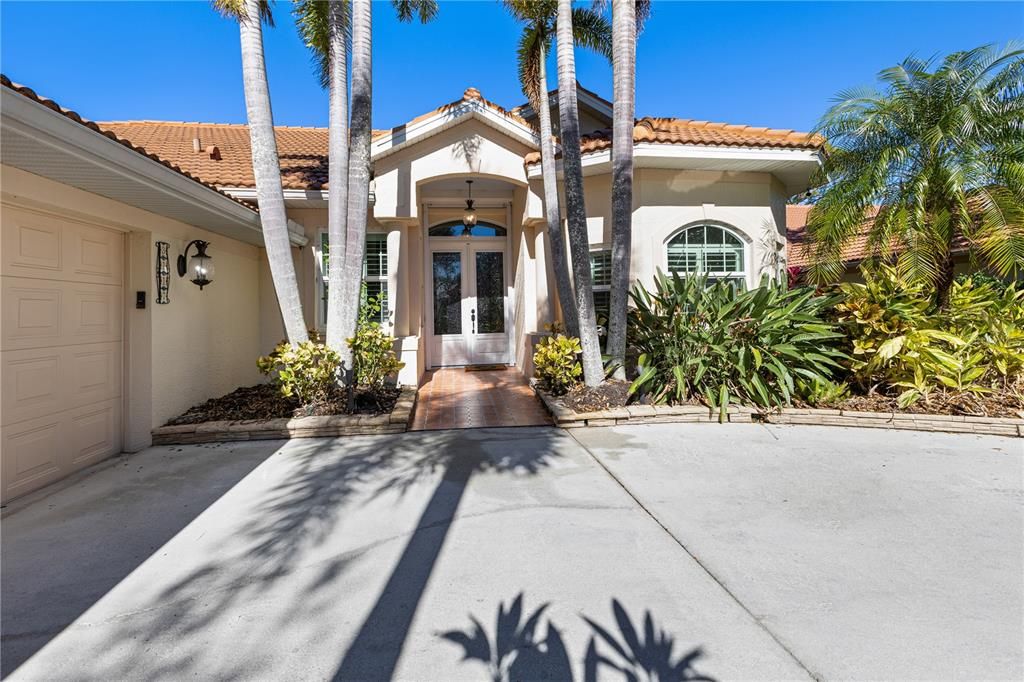
<svg viewBox="0 0 1024 682">
<path fill-rule="evenodd" d="M 884 91 L 840 93 L 817 127 L 829 146 L 808 216 L 810 278 L 837 280 L 843 246 L 865 231 L 940 304 L 959 244 L 1001 275 L 1020 272 L 1024 50 L 983 46 L 937 67 L 910 57 L 879 78 Z"/>
</svg>

